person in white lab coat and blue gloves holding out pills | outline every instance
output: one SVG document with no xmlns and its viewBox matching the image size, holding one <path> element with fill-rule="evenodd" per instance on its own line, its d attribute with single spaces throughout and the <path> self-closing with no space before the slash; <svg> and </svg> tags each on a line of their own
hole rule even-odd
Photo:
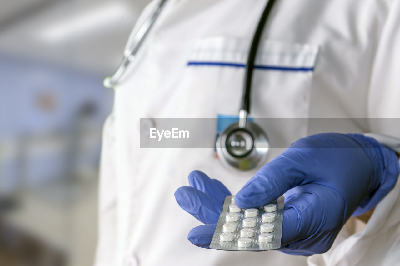
<svg viewBox="0 0 400 266">
<path fill-rule="evenodd" d="M 242 66 L 266 3 L 169 0 L 162 8 L 114 85 L 114 110 L 104 125 L 96 266 L 398 263 L 398 158 L 360 135 L 399 136 L 398 0 L 276 1 L 256 56 L 264 67 L 253 74 L 251 116 L 296 119 L 267 129 L 275 147 L 294 144 L 272 148 L 259 171 L 228 169 L 213 148 L 140 149 L 140 118 L 238 113 Z M 130 39 L 157 4 L 144 10 Z M 331 118 L 345 122 L 335 127 Z M 326 132 L 338 133 L 320 134 Z M 197 247 L 208 246 L 230 192 L 247 207 L 287 190 L 283 252 Z M 372 208 L 368 223 L 354 217 Z"/>
</svg>

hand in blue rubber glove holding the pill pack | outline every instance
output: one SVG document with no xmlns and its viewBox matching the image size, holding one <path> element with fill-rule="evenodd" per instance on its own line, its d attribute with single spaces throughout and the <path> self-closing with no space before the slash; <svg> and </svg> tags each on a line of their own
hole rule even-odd
<svg viewBox="0 0 400 266">
<path fill-rule="evenodd" d="M 329 250 L 350 216 L 373 208 L 392 189 L 399 174 L 394 151 L 356 134 L 318 134 L 293 143 L 264 165 L 236 194 L 241 208 L 261 207 L 286 191 L 282 247 L 289 254 Z M 204 222 L 188 235 L 208 247 L 224 197 L 220 182 L 194 171 L 191 187 L 175 193 L 180 206 Z"/>
</svg>

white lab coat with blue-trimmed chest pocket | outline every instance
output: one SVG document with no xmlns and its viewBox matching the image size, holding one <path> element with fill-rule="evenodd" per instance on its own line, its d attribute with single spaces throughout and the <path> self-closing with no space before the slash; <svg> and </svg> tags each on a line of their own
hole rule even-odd
<svg viewBox="0 0 400 266">
<path fill-rule="evenodd" d="M 132 35 L 151 12 L 143 12 Z M 115 87 L 104 126 L 100 229 L 96 266 L 110 265 L 394 265 L 400 261 L 399 184 L 357 234 L 350 221 L 334 247 L 309 258 L 278 251 L 223 252 L 187 240 L 201 223 L 184 212 L 174 191 L 198 169 L 232 193 L 254 173 L 226 169 L 212 148 L 140 149 L 140 118 L 236 115 L 244 68 L 187 66 L 190 61 L 246 63 L 265 0 L 169 0 L 134 64 Z M 400 118 L 399 0 L 278 0 L 264 29 L 256 64 L 314 71 L 256 70 L 256 118 Z M 132 36 L 131 36 L 132 38 Z M 377 119 L 268 128 L 273 139 L 340 131 L 399 136 Z M 156 127 L 156 125 L 155 125 Z M 213 141 L 213 140 L 212 140 Z M 274 143 L 272 143 L 274 146 Z M 275 145 L 275 147 L 279 147 Z M 272 149 L 270 159 L 282 149 Z"/>
</svg>

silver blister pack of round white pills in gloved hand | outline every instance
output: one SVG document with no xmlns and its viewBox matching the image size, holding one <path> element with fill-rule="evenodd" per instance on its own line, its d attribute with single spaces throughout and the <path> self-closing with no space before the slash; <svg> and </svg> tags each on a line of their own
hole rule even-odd
<svg viewBox="0 0 400 266">
<path fill-rule="evenodd" d="M 225 198 L 210 248 L 262 251 L 280 247 L 284 197 L 262 208 L 242 209 L 235 197 Z"/>
</svg>

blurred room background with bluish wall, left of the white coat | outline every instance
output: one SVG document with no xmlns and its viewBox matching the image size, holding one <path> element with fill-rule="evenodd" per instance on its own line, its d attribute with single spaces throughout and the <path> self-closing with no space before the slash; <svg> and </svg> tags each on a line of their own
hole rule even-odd
<svg viewBox="0 0 400 266">
<path fill-rule="evenodd" d="M 0 265 L 90 266 L 102 85 L 150 0 L 2 0 Z"/>
</svg>

